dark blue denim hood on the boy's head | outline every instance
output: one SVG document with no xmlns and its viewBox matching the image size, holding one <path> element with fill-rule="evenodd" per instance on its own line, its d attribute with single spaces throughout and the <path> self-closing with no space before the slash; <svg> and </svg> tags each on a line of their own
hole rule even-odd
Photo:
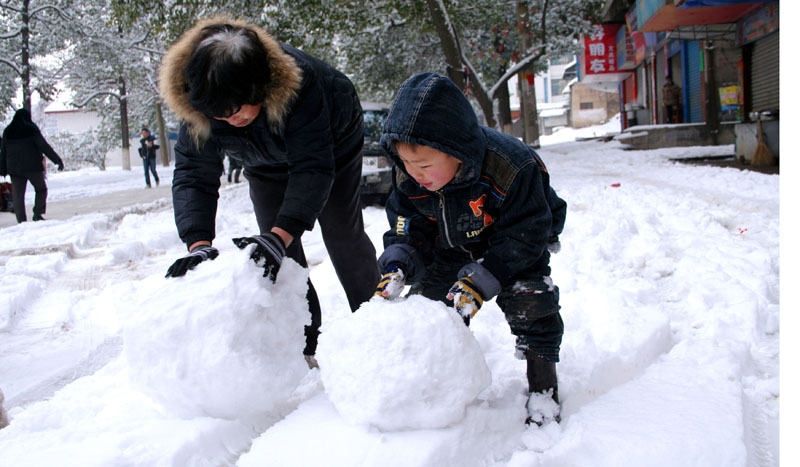
<svg viewBox="0 0 800 467">
<path fill-rule="evenodd" d="M 403 83 L 384 122 L 381 145 L 403 167 L 393 141 L 430 146 L 461 160 L 456 183 L 480 174 L 486 152 L 486 136 L 472 105 L 453 81 L 435 73 Z"/>
</svg>

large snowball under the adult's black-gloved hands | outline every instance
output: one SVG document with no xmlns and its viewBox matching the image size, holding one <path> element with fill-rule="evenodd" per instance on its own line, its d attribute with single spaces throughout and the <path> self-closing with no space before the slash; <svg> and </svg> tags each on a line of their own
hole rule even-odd
<svg viewBox="0 0 800 467">
<path fill-rule="evenodd" d="M 137 284 L 135 303 L 121 305 L 131 384 L 187 418 L 236 419 L 284 402 L 308 372 L 308 274 L 288 259 L 276 284 L 262 273 L 234 250 L 184 277 Z"/>
</svg>

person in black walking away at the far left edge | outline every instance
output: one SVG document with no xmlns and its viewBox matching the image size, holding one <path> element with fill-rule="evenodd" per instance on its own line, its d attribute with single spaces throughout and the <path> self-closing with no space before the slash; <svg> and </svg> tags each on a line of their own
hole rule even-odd
<svg viewBox="0 0 800 467">
<path fill-rule="evenodd" d="M 44 156 L 58 166 L 59 172 L 64 170 L 64 162 L 44 139 L 39 127 L 33 123 L 31 112 L 26 108 L 17 110 L 11 123 L 3 131 L 3 140 L 0 143 L 0 175 L 11 176 L 11 199 L 19 223 L 28 220 L 25 213 L 25 190 L 28 182 L 36 190 L 33 220 L 45 220 L 47 183 Z"/>
</svg>

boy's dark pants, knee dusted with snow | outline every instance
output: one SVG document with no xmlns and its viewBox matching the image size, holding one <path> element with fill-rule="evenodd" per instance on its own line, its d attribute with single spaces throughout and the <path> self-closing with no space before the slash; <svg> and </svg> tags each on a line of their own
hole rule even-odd
<svg viewBox="0 0 800 467">
<path fill-rule="evenodd" d="M 452 306 L 447 292 L 458 281 L 458 271 L 468 262 L 471 260 L 463 255 L 437 250 L 433 263 L 422 279 L 412 285 L 410 293 Z M 517 338 L 518 352 L 533 352 L 548 361 L 558 362 L 564 335 L 558 299 L 558 287 L 552 285 L 548 277 L 533 272 L 520 273 L 503 287 L 497 296 L 497 305 Z"/>
</svg>

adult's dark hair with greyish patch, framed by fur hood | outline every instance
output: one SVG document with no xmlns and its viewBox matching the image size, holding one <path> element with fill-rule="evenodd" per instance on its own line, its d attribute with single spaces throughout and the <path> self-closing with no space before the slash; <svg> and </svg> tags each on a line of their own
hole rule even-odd
<svg viewBox="0 0 800 467">
<path fill-rule="evenodd" d="M 219 24 L 203 28 L 201 37 L 184 70 L 192 107 L 224 118 L 263 103 L 269 58 L 255 31 Z"/>
</svg>

